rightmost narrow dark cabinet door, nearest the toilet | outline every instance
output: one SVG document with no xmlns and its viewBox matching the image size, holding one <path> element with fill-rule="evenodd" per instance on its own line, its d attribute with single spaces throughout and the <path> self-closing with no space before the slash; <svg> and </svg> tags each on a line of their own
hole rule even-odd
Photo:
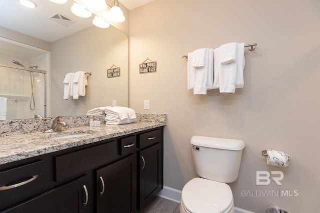
<svg viewBox="0 0 320 213">
<path fill-rule="evenodd" d="M 146 204 L 161 190 L 161 150 L 159 143 L 139 152 L 139 210 L 143 210 Z"/>
</svg>

